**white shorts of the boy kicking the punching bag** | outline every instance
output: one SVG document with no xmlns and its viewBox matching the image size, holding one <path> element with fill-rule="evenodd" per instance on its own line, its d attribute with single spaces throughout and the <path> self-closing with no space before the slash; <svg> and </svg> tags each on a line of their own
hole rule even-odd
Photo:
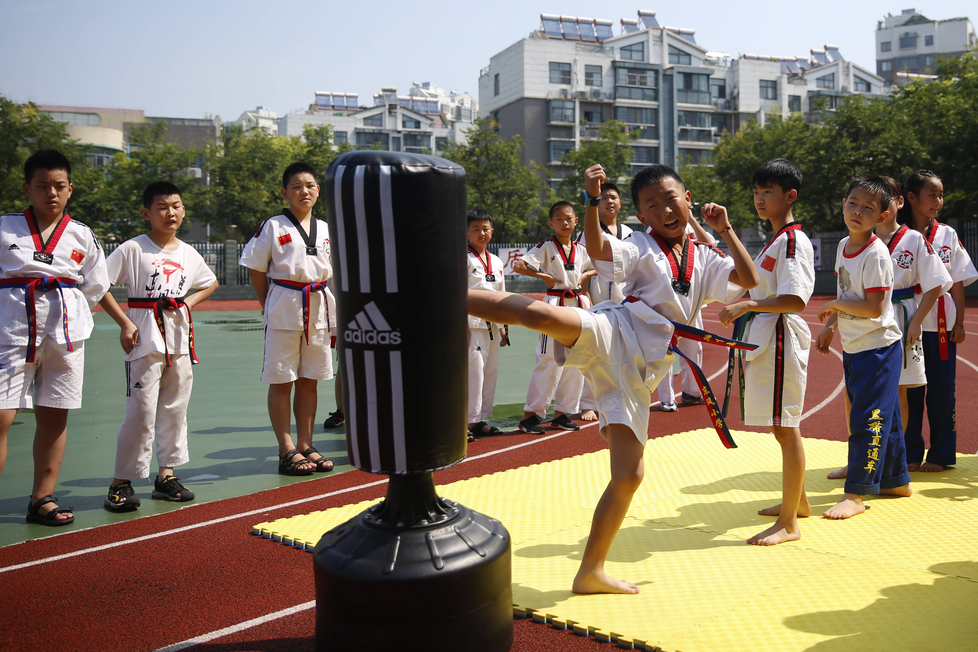
<svg viewBox="0 0 978 652">
<path fill-rule="evenodd" d="M 627 310 L 575 310 L 581 318 L 581 335 L 569 349 L 555 342 L 557 364 L 584 373 L 598 404 L 602 435 L 607 424 L 624 423 L 645 444 L 649 395 L 660 380 L 671 377 L 673 354 L 646 363 Z"/>
</svg>

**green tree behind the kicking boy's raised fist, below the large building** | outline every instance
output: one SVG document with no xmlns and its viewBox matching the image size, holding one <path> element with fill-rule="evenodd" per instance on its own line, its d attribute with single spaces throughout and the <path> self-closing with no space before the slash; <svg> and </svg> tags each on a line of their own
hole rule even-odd
<svg viewBox="0 0 978 652">
<path fill-rule="evenodd" d="M 577 150 L 564 154 L 563 162 L 569 163 L 570 172 L 560 180 L 557 194 L 574 204 L 574 210 L 584 215 L 581 191 L 584 190 L 584 172 L 596 163 L 604 168 L 607 178 L 622 189 L 623 215 L 631 210 L 628 180 L 632 177 L 633 150 L 631 143 L 639 137 L 638 131 L 629 132 L 624 122 L 608 120 L 598 128 L 597 138 L 581 143 Z"/>
</svg>

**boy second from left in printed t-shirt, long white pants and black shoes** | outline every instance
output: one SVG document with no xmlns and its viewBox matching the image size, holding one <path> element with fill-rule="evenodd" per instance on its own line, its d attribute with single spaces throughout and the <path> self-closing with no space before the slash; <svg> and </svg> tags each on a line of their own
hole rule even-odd
<svg viewBox="0 0 978 652">
<path fill-rule="evenodd" d="M 154 439 L 159 472 L 153 498 L 195 498 L 173 475 L 173 467 L 190 461 L 187 406 L 192 366 L 198 363 L 191 309 L 217 289 L 217 278 L 197 249 L 177 239 L 186 215 L 180 189 L 168 181 L 150 184 L 143 192 L 142 214 L 150 233 L 126 240 L 106 261 L 111 283 L 129 289 L 129 309 L 123 313 L 109 293 L 101 302 L 122 328 L 125 352 L 125 420 L 105 500 L 111 509 L 140 505 L 132 480 L 150 476 Z M 200 291 L 189 294 L 191 288 Z"/>
</svg>

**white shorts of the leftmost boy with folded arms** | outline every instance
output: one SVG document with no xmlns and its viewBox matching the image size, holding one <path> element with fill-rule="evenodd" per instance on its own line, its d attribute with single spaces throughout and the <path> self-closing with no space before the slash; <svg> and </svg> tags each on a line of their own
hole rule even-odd
<svg viewBox="0 0 978 652">
<path fill-rule="evenodd" d="M 80 408 L 85 340 L 72 344 L 74 351 L 68 351 L 67 345 L 45 336 L 30 365 L 26 346 L 0 346 L 0 410 Z"/>
</svg>

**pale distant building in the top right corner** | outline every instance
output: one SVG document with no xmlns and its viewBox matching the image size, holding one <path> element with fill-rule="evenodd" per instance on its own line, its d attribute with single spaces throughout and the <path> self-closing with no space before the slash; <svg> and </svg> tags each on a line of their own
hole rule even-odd
<svg viewBox="0 0 978 652">
<path fill-rule="evenodd" d="M 967 18 L 932 21 L 905 9 L 876 24 L 876 74 L 896 84 L 897 72 L 933 73 L 938 57 L 960 56 L 976 43 L 975 27 Z"/>
</svg>

